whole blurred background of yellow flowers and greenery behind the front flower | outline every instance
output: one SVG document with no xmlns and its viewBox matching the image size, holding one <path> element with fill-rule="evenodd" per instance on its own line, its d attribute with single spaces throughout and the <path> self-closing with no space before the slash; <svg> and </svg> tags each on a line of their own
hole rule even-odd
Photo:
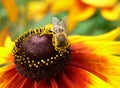
<svg viewBox="0 0 120 88">
<path fill-rule="evenodd" d="M 98 35 L 120 26 L 120 0 L 0 0 L 0 41 L 45 26 L 53 16 L 67 16 L 68 35 Z"/>
</svg>

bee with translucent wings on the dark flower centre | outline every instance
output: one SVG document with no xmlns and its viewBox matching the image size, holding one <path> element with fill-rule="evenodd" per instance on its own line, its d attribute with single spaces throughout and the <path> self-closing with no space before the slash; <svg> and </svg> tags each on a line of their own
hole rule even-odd
<svg viewBox="0 0 120 88">
<path fill-rule="evenodd" d="M 67 45 L 67 18 L 63 17 L 62 21 L 58 18 L 52 18 L 53 31 L 55 32 L 55 45 L 65 47 Z"/>
</svg>

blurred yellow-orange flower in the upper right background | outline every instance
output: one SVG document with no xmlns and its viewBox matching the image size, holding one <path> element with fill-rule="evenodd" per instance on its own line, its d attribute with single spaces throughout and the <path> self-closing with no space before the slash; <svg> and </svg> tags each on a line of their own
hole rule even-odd
<svg viewBox="0 0 120 88">
<path fill-rule="evenodd" d="M 52 12 L 58 14 L 63 11 L 68 12 L 69 31 L 80 21 L 89 19 L 100 9 L 101 15 L 110 20 L 118 20 L 120 18 L 120 3 L 118 0 L 56 0 L 52 4 Z"/>
</svg>

